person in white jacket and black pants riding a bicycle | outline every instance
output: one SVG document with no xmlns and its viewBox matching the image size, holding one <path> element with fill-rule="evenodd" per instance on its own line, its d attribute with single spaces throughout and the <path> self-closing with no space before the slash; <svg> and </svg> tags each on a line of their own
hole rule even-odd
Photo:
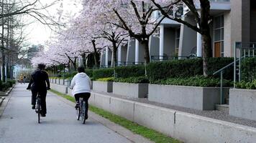
<svg viewBox="0 0 256 143">
<path fill-rule="evenodd" d="M 83 97 L 86 102 L 86 118 L 88 118 L 88 99 L 91 96 L 91 79 L 85 73 L 82 66 L 78 67 L 78 74 L 73 77 L 70 89 L 73 89 L 73 95 L 76 99 L 76 108 L 79 107 L 79 98 Z"/>
</svg>

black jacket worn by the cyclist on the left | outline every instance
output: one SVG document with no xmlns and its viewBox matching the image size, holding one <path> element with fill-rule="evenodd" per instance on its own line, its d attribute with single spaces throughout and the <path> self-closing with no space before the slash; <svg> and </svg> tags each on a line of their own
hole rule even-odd
<svg viewBox="0 0 256 143">
<path fill-rule="evenodd" d="M 31 77 L 27 89 L 33 89 L 35 91 L 45 91 L 50 89 L 49 77 L 46 71 L 37 69 L 32 73 Z"/>
</svg>

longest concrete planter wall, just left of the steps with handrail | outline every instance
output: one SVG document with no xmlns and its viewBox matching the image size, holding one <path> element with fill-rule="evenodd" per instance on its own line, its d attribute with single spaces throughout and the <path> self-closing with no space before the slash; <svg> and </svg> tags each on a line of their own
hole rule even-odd
<svg viewBox="0 0 256 143">
<path fill-rule="evenodd" d="M 227 97 L 229 88 L 224 88 Z M 152 102 L 170 104 L 199 110 L 214 110 L 220 104 L 219 87 L 187 87 L 149 84 L 148 99 Z"/>
</svg>

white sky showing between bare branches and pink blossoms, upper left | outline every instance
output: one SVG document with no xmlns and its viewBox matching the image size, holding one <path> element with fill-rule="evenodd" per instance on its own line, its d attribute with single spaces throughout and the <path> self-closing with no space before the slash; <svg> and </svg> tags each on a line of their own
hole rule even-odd
<svg viewBox="0 0 256 143">
<path fill-rule="evenodd" d="M 42 4 L 51 4 L 52 1 L 55 0 L 41 0 Z M 60 9 L 60 3 L 63 3 L 63 14 L 77 14 L 81 9 L 82 6 L 79 2 L 79 0 L 62 0 L 58 1 L 58 4 L 55 4 L 54 6 L 51 6 L 47 9 L 47 11 L 52 16 L 58 16 L 57 9 Z M 47 11 L 43 11 L 45 14 L 47 14 Z M 26 43 L 29 44 L 45 44 L 45 41 L 50 39 L 50 36 L 54 34 L 51 29 L 44 24 L 41 24 L 39 21 L 35 21 L 35 19 L 32 19 L 32 17 L 24 17 L 25 21 L 32 22 L 32 24 L 29 24 L 27 28 L 25 29 L 26 36 Z"/>
</svg>

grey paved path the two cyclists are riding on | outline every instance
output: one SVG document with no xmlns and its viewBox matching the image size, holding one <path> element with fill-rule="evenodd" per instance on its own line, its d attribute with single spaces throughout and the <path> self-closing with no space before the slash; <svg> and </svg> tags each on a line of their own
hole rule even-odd
<svg viewBox="0 0 256 143">
<path fill-rule="evenodd" d="M 9 102 L 0 117 L 0 143 L 129 143 L 130 141 L 90 118 L 86 124 L 76 120 L 74 107 L 59 97 L 47 94 L 47 116 L 37 123 L 31 109 L 31 93 L 27 84 L 14 87 Z"/>
</svg>

